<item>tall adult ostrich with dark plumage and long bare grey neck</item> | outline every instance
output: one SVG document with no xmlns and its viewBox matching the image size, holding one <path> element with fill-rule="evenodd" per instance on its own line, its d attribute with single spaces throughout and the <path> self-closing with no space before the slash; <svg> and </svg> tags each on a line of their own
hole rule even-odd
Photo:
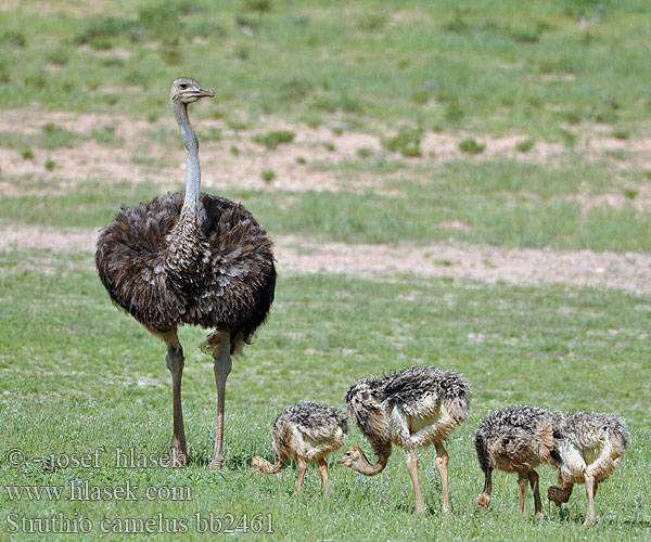
<svg viewBox="0 0 651 542">
<path fill-rule="evenodd" d="M 242 352 L 273 301 L 273 245 L 240 204 L 201 194 L 199 141 L 188 104 L 215 93 L 189 78 L 171 83 L 171 109 L 186 147 L 186 193 L 122 206 L 100 232 L 95 263 L 113 301 L 167 346 L 171 373 L 173 465 L 187 460 L 181 410 L 181 324 L 213 328 L 201 349 L 215 360 L 217 434 L 212 468 L 224 465 L 224 405 L 231 354 Z"/>
</svg>

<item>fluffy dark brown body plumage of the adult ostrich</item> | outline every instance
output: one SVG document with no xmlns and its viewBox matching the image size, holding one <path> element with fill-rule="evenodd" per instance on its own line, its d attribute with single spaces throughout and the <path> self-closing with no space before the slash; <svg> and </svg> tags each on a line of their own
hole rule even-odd
<svg viewBox="0 0 651 542">
<path fill-rule="evenodd" d="M 271 241 L 242 205 L 200 196 L 194 221 L 179 221 L 184 193 L 123 206 L 98 240 L 95 261 L 111 299 L 156 333 L 181 324 L 248 341 L 271 301 Z M 238 336 L 240 334 L 240 336 Z"/>
</svg>

